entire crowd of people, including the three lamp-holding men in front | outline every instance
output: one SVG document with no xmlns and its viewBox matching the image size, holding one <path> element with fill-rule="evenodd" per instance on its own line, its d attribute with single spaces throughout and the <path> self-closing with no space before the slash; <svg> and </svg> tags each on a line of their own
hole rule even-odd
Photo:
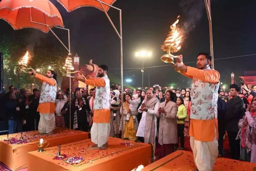
<svg viewBox="0 0 256 171">
<path fill-rule="evenodd" d="M 30 95 L 28 90 L 9 87 L 2 101 L 9 133 L 36 129 L 52 133 L 56 126 L 90 131 L 94 146 L 101 150 L 108 147 L 109 136 L 120 138 L 123 133 L 125 139 L 154 148 L 158 141 L 159 158 L 183 150 L 185 137 L 190 137 L 198 170 L 212 170 L 216 157 L 224 156 L 227 134 L 233 159 L 256 162 L 256 86 L 231 84 L 229 92 L 223 92 L 220 74 L 210 69 L 210 63 L 208 53 L 198 54 L 197 68 L 184 65 L 179 56 L 175 69 L 192 79 L 192 88 L 181 91 L 159 87 L 121 91 L 118 85 L 110 87 L 108 67 L 101 65 L 97 78 L 75 77 L 95 88 L 76 88 L 69 96 L 69 89 L 56 91 L 54 71 L 46 76 L 28 72 L 42 81 L 42 93 L 34 89 Z"/>
</svg>

